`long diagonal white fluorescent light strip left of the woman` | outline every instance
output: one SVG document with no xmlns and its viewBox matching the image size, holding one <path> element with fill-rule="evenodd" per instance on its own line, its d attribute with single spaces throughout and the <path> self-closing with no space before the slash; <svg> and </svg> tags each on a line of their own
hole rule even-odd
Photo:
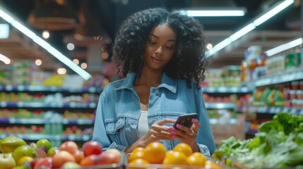
<svg viewBox="0 0 303 169">
<path fill-rule="evenodd" d="M 85 80 L 89 80 L 92 75 L 90 75 L 88 72 L 80 68 L 78 65 L 73 63 L 69 58 L 64 56 L 64 54 L 61 54 L 57 49 L 55 49 L 52 45 L 44 41 L 39 36 L 35 35 L 34 32 L 28 29 L 28 27 L 25 27 L 23 24 L 18 22 L 14 17 L 12 17 L 8 12 L 5 11 L 5 9 L 0 5 L 0 17 L 6 20 L 8 23 L 11 23 L 13 27 L 15 27 L 17 30 L 22 32 L 27 37 L 30 37 L 32 41 L 40 45 L 43 49 L 47 50 L 49 54 L 52 54 L 55 58 L 57 58 L 59 61 L 67 65 L 71 70 L 78 73 L 78 75 L 81 75 Z"/>
</svg>

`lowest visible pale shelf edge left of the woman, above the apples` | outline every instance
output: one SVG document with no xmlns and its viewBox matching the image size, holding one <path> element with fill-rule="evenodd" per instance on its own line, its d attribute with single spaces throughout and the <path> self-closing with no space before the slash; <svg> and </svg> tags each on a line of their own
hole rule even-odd
<svg viewBox="0 0 303 169">
<path fill-rule="evenodd" d="M 53 124 L 60 123 L 64 125 L 93 125 L 93 119 L 63 119 L 63 120 L 49 120 L 47 118 L 0 118 L 0 123 L 9 123 L 9 124 Z"/>
</svg>

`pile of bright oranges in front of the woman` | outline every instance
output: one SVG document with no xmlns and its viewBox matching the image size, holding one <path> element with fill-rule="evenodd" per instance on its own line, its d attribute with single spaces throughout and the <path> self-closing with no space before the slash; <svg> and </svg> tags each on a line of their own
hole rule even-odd
<svg viewBox="0 0 303 169">
<path fill-rule="evenodd" d="M 162 143 L 152 142 L 134 149 L 127 161 L 128 168 L 223 168 L 200 152 L 193 152 L 185 143 L 167 151 Z"/>
</svg>

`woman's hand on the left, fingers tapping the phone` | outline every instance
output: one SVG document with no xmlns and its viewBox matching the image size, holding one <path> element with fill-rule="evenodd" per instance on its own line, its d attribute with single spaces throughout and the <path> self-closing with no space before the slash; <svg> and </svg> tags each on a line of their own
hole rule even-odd
<svg viewBox="0 0 303 169">
<path fill-rule="evenodd" d="M 176 120 L 168 118 L 164 120 L 155 121 L 155 123 L 150 126 L 148 133 L 140 139 L 142 146 L 146 146 L 151 142 L 158 142 L 160 139 L 174 139 L 174 137 L 170 133 L 170 127 L 166 126 L 165 124 L 174 123 L 175 121 Z"/>
</svg>

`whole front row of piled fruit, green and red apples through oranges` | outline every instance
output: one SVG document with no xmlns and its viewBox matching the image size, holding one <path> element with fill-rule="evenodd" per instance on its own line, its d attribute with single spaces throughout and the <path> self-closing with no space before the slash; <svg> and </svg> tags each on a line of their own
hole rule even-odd
<svg viewBox="0 0 303 169">
<path fill-rule="evenodd" d="M 137 147 L 131 154 L 117 149 L 103 150 L 99 142 L 88 141 L 82 147 L 66 141 L 52 146 L 47 139 L 28 144 L 9 136 L 0 140 L 1 169 L 88 169 L 88 168 L 225 168 L 210 156 L 193 152 L 188 144 L 166 150 L 160 142 Z"/>
</svg>

